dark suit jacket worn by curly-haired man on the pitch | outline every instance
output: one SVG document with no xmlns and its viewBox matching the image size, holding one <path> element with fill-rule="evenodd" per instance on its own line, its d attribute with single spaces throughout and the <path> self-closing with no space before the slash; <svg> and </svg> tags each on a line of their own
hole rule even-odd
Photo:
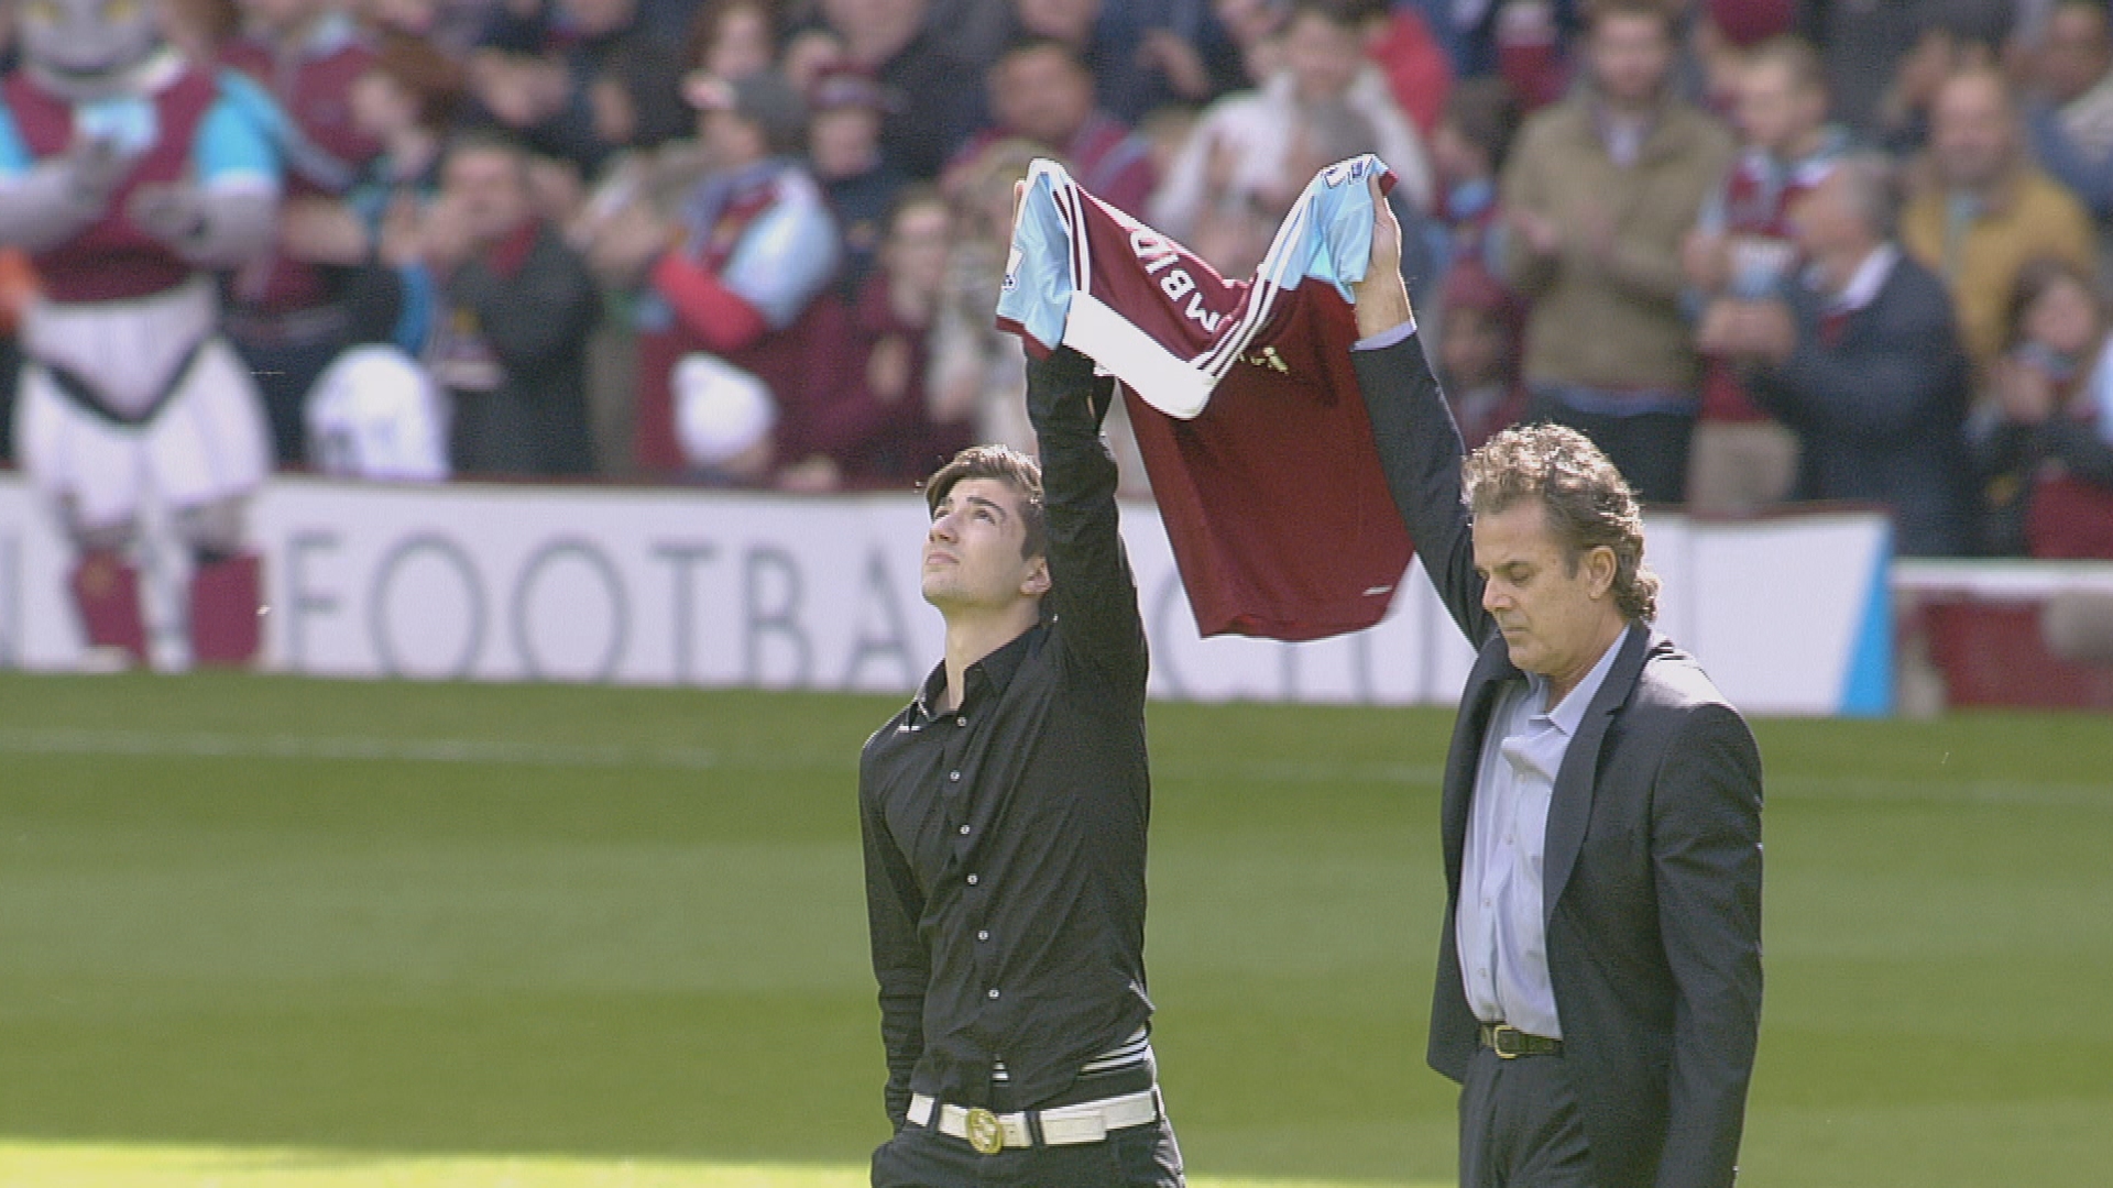
<svg viewBox="0 0 2113 1188">
<path fill-rule="evenodd" d="M 1460 854 L 1483 731 L 1521 672 L 1481 607 L 1460 433 L 1422 345 L 1359 351 L 1357 376 L 1395 505 L 1479 649 L 1445 761 L 1428 1053 L 1462 1080 L 1477 1019 L 1454 947 Z M 1760 753 L 1665 636 L 1635 624 L 1619 647 L 1549 801 L 1542 894 L 1564 1070 L 1600 1188 L 1720 1188 L 1735 1175 L 1760 1027 Z"/>
</svg>

